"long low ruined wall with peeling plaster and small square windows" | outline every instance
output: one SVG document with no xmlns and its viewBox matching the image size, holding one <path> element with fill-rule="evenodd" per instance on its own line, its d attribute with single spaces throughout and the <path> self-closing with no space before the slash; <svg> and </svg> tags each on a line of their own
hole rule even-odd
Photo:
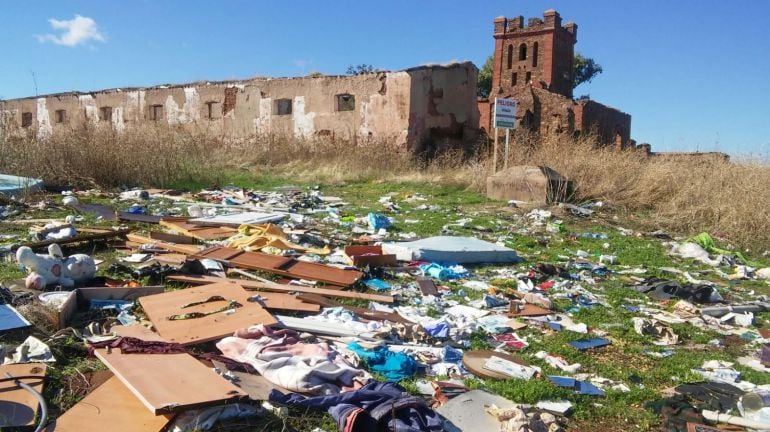
<svg viewBox="0 0 770 432">
<path fill-rule="evenodd" d="M 324 137 L 388 142 L 475 140 L 472 63 L 354 76 L 254 78 L 61 93 L 0 102 L 6 124 L 39 138 L 84 125 L 126 130 L 160 123 L 230 138 Z M 443 145 L 443 144 L 441 144 Z"/>
</svg>

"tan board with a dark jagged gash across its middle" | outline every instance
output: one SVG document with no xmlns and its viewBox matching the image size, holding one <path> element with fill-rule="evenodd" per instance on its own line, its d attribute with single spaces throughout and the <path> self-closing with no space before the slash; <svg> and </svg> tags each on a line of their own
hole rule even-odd
<svg viewBox="0 0 770 432">
<path fill-rule="evenodd" d="M 222 296 L 225 301 L 182 307 L 215 295 Z M 255 324 L 275 324 L 277 322 L 275 318 L 259 303 L 248 301 L 252 295 L 239 285 L 223 282 L 142 297 L 139 303 L 162 338 L 169 342 L 188 345 L 220 339 L 240 328 Z M 218 312 L 201 318 L 184 320 L 168 319 L 178 314 L 211 312 L 227 306 L 231 300 L 242 305 L 232 309 L 234 311 L 232 313 Z"/>
</svg>

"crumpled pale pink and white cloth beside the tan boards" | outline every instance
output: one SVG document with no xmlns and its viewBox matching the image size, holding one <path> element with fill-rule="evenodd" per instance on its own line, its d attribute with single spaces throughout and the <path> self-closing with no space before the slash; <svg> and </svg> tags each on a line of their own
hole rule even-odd
<svg viewBox="0 0 770 432">
<path fill-rule="evenodd" d="M 268 381 L 291 391 L 335 394 L 368 381 L 326 343 L 300 342 L 293 330 L 256 325 L 217 343 L 226 357 L 248 363 Z"/>
</svg>

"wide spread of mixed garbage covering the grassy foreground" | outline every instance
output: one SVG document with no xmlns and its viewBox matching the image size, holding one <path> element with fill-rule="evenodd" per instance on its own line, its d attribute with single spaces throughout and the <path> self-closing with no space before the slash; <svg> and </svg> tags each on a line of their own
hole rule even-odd
<svg viewBox="0 0 770 432">
<path fill-rule="evenodd" d="M 602 376 L 591 363 L 618 355 L 623 337 L 663 362 L 693 349 L 696 329 L 715 336 L 702 352 L 738 340 L 740 356 L 672 378 L 648 409 L 683 427 L 667 430 L 770 429 L 770 380 L 741 373 L 770 371 L 770 300 L 738 289 L 766 286 L 770 268 L 708 234 L 570 232 L 595 204 L 508 208 L 488 228 L 418 193 L 356 213 L 294 186 L 34 199 L 4 216 L 28 233 L 0 237 L 25 273 L 0 279 L 0 428 L 209 430 L 304 409 L 340 431 L 572 430 L 576 409 L 646 391 L 634 365 Z M 452 220 L 420 236 L 407 207 Z M 637 236 L 706 269 L 628 265 L 618 239 Z M 543 250 L 517 252 L 522 239 Z M 597 247 L 573 249 L 581 239 Z M 602 314 L 616 323 L 597 325 Z M 65 339 L 109 372 L 58 412 L 46 371 Z M 525 382 L 553 397 L 512 399 Z"/>
</svg>

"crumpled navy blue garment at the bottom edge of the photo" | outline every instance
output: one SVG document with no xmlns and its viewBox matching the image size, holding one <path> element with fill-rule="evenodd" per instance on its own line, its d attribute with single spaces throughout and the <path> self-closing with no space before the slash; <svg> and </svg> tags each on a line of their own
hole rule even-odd
<svg viewBox="0 0 770 432">
<path fill-rule="evenodd" d="M 440 432 L 441 418 L 419 397 L 394 383 L 371 382 L 351 392 L 304 398 L 270 392 L 270 401 L 328 410 L 340 432 Z"/>
</svg>

